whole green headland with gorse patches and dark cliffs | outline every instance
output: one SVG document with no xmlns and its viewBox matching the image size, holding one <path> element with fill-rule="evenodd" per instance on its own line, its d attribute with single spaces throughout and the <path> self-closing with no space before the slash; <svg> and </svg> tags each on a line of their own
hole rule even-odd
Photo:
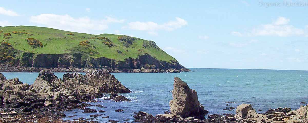
<svg viewBox="0 0 308 123">
<path fill-rule="evenodd" d="M 155 42 L 131 36 L 90 35 L 44 27 L 7 26 L 0 27 L 0 41 L 0 63 L 15 66 L 57 67 L 61 64 L 75 64 L 76 67 L 139 69 L 141 65 L 148 64 L 156 68 L 183 68 Z M 102 58 L 107 58 L 107 61 Z M 40 62 L 44 62 L 44 65 Z"/>
</svg>

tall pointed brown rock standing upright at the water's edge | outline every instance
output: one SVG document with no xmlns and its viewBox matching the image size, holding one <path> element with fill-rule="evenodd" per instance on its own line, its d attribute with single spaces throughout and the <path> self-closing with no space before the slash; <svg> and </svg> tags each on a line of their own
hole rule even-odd
<svg viewBox="0 0 308 123">
<path fill-rule="evenodd" d="M 197 92 L 190 89 L 180 78 L 174 77 L 172 96 L 173 99 L 169 103 L 172 114 L 183 118 L 191 116 L 204 118 L 207 111 L 200 104 Z"/>
</svg>

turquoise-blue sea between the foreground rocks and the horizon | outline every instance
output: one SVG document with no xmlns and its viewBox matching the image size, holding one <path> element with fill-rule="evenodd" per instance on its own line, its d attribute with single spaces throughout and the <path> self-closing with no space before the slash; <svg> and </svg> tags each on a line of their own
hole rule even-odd
<svg viewBox="0 0 308 123">
<path fill-rule="evenodd" d="M 173 77 L 179 77 L 198 93 L 199 101 L 211 114 L 235 113 L 235 110 L 223 110 L 236 107 L 241 103 L 253 104 L 256 110 L 267 111 L 269 108 L 299 108 L 300 102 L 308 102 L 308 71 L 299 70 L 243 70 L 243 69 L 199 69 L 191 68 L 192 72 L 181 73 L 112 73 L 133 93 L 123 94 L 132 102 L 113 102 L 102 100 L 99 103 L 107 108 L 90 107 L 107 111 L 98 121 L 133 119 L 132 113 L 144 111 L 159 114 L 169 109 L 172 99 Z M 24 83 L 32 84 L 37 72 L 2 72 L 6 78 L 19 78 Z M 62 78 L 64 73 L 55 73 Z M 84 73 L 83 73 L 84 74 Z M 109 95 L 106 95 L 109 97 Z M 225 102 L 236 102 L 229 104 Z M 124 112 L 115 112 L 123 109 Z M 72 112 L 77 112 L 72 114 Z M 81 110 L 66 112 L 67 115 L 90 118 Z"/>
</svg>

